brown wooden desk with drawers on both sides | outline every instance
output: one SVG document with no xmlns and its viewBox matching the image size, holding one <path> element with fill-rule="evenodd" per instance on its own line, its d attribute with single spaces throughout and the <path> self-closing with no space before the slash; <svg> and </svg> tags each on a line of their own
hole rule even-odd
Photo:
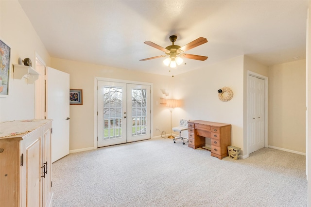
<svg viewBox="0 0 311 207">
<path fill-rule="evenodd" d="M 231 125 L 195 120 L 188 122 L 188 146 L 196 149 L 205 146 L 205 138 L 210 138 L 211 156 L 223 159 L 228 156 L 227 146 L 231 145 Z"/>
</svg>

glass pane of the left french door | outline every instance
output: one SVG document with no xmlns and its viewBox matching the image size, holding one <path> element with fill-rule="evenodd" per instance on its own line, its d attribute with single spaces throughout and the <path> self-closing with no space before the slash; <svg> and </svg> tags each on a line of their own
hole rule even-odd
<svg viewBox="0 0 311 207">
<path fill-rule="evenodd" d="M 122 135 L 122 88 L 104 86 L 104 136 L 103 140 Z"/>
</svg>

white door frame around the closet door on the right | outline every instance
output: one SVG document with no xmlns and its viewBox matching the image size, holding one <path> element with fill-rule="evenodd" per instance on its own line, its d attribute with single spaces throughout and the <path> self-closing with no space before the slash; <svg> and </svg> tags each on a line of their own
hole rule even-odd
<svg viewBox="0 0 311 207">
<path fill-rule="evenodd" d="M 247 71 L 247 90 L 246 90 L 246 96 L 247 96 L 247 100 L 246 100 L 246 120 L 247 120 L 247 123 L 246 123 L 246 136 L 244 136 L 244 142 L 246 143 L 246 157 L 245 158 L 248 158 L 249 156 L 249 151 L 248 151 L 248 137 L 247 137 L 247 134 L 248 134 L 248 81 L 249 81 L 249 76 L 253 76 L 253 77 L 256 77 L 256 78 L 260 78 L 260 79 L 263 79 L 264 80 L 264 147 L 269 147 L 268 145 L 268 77 L 266 76 L 263 76 L 263 75 L 260 75 L 258 73 L 255 73 L 253 71 Z"/>
</svg>

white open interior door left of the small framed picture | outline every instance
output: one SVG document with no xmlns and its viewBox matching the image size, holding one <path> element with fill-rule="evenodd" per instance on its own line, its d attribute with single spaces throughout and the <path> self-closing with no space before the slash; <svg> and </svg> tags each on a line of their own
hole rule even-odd
<svg viewBox="0 0 311 207">
<path fill-rule="evenodd" d="M 47 67 L 47 119 L 52 122 L 52 162 L 69 154 L 69 74 Z"/>
</svg>

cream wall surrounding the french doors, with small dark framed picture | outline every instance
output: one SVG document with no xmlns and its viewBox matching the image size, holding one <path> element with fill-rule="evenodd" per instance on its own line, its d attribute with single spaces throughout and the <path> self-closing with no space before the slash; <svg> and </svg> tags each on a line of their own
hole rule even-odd
<svg viewBox="0 0 311 207">
<path fill-rule="evenodd" d="M 170 113 L 159 103 L 160 89 L 172 91 L 171 77 L 51 58 L 52 67 L 70 74 L 70 88 L 83 89 L 83 105 L 70 105 L 70 150 L 94 147 L 94 77 L 153 83 L 153 135 L 170 131 Z"/>
</svg>

